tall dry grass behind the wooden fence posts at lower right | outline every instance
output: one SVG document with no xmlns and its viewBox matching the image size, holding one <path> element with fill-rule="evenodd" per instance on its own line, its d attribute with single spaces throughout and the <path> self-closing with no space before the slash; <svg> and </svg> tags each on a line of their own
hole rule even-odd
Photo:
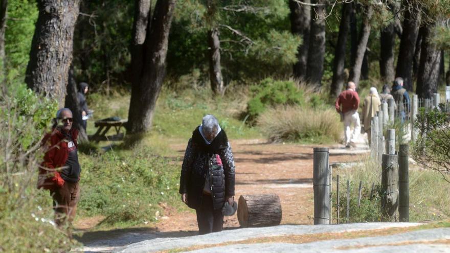
<svg viewBox="0 0 450 253">
<path fill-rule="evenodd" d="M 379 221 L 381 189 L 381 165 L 371 158 L 365 158 L 356 164 L 333 169 L 333 206 L 336 203 L 336 176 L 340 180 L 341 221 L 345 220 L 347 180 L 350 180 L 350 222 Z M 357 207 L 359 181 L 363 182 L 361 206 Z M 410 168 L 410 221 L 445 220 L 450 218 L 450 183 L 431 170 Z M 374 193 L 370 196 L 372 183 Z M 372 197 L 372 198 L 370 198 Z M 333 215 L 335 217 L 335 213 Z"/>
</svg>

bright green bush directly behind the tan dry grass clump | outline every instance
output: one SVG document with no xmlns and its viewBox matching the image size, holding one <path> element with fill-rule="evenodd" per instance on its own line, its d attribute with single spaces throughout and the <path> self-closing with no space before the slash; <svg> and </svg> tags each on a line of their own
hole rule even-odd
<svg viewBox="0 0 450 253">
<path fill-rule="evenodd" d="M 250 87 L 252 99 L 247 103 L 249 120 L 254 121 L 269 106 L 302 105 L 303 91 L 292 81 L 262 80 Z"/>
</svg>

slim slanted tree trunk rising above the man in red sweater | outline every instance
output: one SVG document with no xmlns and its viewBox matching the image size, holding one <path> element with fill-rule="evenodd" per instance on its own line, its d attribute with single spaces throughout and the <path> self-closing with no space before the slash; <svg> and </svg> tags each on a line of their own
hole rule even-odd
<svg viewBox="0 0 450 253">
<path fill-rule="evenodd" d="M 364 55 L 366 53 L 367 48 L 367 41 L 369 40 L 371 25 L 370 21 L 372 19 L 373 9 L 372 6 L 369 4 L 366 7 L 366 13 L 364 13 L 364 20 L 363 20 L 363 29 L 361 31 L 361 38 L 358 42 L 358 47 L 356 50 L 356 58 L 355 63 L 352 66 L 352 69 L 350 71 L 350 78 L 349 80 L 354 82 L 356 86 L 359 83 L 359 78 L 361 77 L 361 66 L 363 64 Z"/>
</svg>

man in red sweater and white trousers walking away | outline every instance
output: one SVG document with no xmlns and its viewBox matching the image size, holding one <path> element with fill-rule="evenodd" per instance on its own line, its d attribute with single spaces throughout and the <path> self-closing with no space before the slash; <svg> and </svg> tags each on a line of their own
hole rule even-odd
<svg viewBox="0 0 450 253">
<path fill-rule="evenodd" d="M 355 91 L 356 85 L 354 82 L 347 83 L 347 89 L 342 91 L 338 99 L 336 99 L 336 111 L 341 114 L 341 121 L 344 122 L 345 147 L 355 147 L 355 141 L 361 132 L 361 122 L 359 122 L 358 106 L 359 97 Z M 353 124 L 353 133 L 350 130 L 350 125 Z"/>
</svg>

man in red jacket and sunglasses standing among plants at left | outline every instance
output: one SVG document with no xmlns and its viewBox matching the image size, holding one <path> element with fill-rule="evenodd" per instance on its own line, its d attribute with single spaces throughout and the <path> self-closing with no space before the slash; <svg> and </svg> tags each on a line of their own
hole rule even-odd
<svg viewBox="0 0 450 253">
<path fill-rule="evenodd" d="M 80 196 L 78 130 L 72 129 L 72 122 L 72 111 L 68 108 L 59 109 L 52 133 L 43 140 L 46 153 L 39 170 L 38 188 L 50 190 L 58 226 L 66 220 L 73 221 Z"/>
</svg>

